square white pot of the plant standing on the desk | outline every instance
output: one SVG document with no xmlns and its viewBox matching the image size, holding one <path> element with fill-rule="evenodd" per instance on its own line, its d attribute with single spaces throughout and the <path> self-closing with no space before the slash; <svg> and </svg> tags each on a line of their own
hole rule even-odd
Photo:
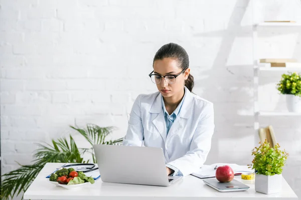
<svg viewBox="0 0 301 200">
<path fill-rule="evenodd" d="M 255 174 L 255 191 L 271 194 L 278 193 L 281 191 L 282 175 L 263 175 Z"/>
</svg>

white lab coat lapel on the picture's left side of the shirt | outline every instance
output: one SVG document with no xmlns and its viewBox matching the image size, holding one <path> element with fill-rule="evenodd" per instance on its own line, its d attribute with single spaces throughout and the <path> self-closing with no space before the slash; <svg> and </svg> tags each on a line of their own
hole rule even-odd
<svg viewBox="0 0 301 200">
<path fill-rule="evenodd" d="M 157 116 L 153 119 L 153 124 L 157 128 L 158 132 L 161 134 L 164 142 L 166 141 L 166 124 L 165 118 L 162 108 L 162 101 L 161 101 L 161 93 L 157 95 L 155 98 L 152 107 L 150 108 L 149 112 L 153 114 L 157 114 Z"/>
</svg>

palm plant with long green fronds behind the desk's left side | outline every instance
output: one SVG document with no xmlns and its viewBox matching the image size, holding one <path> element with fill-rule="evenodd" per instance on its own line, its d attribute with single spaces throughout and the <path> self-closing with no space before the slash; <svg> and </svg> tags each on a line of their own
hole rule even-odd
<svg viewBox="0 0 301 200">
<path fill-rule="evenodd" d="M 83 154 L 88 152 L 92 155 L 93 163 L 96 163 L 93 152 L 93 144 L 119 144 L 122 138 L 116 140 L 106 140 L 106 136 L 113 131 L 113 127 L 99 127 L 95 124 L 87 124 L 86 128 L 73 127 L 91 144 L 90 148 L 78 148 L 73 137 L 58 138 L 52 140 L 51 144 L 46 142 L 38 143 L 38 149 L 34 152 L 33 164 L 22 165 L 21 167 L 1 176 L 2 184 L 0 199 L 10 199 L 21 192 L 25 192 L 31 182 L 47 162 L 69 162 L 87 163 L 90 160 L 83 160 Z"/>
</svg>

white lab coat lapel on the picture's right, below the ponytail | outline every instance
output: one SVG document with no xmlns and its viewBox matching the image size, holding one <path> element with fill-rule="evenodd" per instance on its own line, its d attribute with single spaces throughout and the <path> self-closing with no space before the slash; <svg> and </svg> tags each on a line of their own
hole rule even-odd
<svg viewBox="0 0 301 200">
<path fill-rule="evenodd" d="M 173 122 L 173 125 L 171 126 L 171 129 L 167 135 L 167 141 L 174 134 L 181 133 L 181 129 L 186 125 L 188 118 L 192 114 L 193 96 L 187 87 L 185 87 L 185 92 L 186 92 L 186 95 L 185 95 L 185 99 L 183 101 L 181 110 L 179 112 L 179 115 Z"/>
</svg>

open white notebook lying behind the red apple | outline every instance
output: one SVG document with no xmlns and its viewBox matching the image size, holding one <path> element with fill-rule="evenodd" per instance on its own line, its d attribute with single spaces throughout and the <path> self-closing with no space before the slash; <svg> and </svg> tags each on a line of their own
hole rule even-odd
<svg viewBox="0 0 301 200">
<path fill-rule="evenodd" d="M 254 170 L 248 168 L 247 165 L 238 165 L 235 163 L 214 163 L 211 165 L 204 164 L 201 168 L 199 168 L 191 175 L 194 175 L 199 178 L 213 178 L 215 177 L 215 172 L 216 172 L 216 169 L 214 168 L 223 165 L 229 165 L 233 169 L 234 175 L 241 175 L 242 172 L 254 172 Z"/>
</svg>

